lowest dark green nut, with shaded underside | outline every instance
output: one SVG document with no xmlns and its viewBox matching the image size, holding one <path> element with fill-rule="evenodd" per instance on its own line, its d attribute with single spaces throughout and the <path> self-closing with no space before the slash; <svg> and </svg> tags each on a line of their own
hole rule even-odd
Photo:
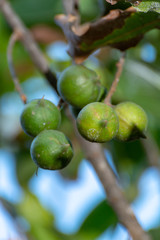
<svg viewBox="0 0 160 240">
<path fill-rule="evenodd" d="M 68 138 L 57 130 L 44 130 L 31 144 L 31 157 L 40 168 L 58 170 L 66 167 L 73 157 Z"/>
</svg>

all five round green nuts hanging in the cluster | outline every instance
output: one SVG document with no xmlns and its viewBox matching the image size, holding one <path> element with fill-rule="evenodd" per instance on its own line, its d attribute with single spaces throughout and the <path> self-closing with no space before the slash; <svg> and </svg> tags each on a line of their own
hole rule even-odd
<svg viewBox="0 0 160 240">
<path fill-rule="evenodd" d="M 58 80 L 58 91 L 77 118 L 79 133 L 90 142 L 107 142 L 113 138 L 130 141 L 144 137 L 147 116 L 133 102 L 110 106 L 103 102 L 106 88 L 97 74 L 82 65 L 65 69 Z M 73 157 L 68 138 L 60 131 L 61 114 L 50 101 L 37 99 L 28 103 L 21 115 L 24 131 L 35 137 L 31 157 L 44 169 L 61 169 Z"/>
</svg>

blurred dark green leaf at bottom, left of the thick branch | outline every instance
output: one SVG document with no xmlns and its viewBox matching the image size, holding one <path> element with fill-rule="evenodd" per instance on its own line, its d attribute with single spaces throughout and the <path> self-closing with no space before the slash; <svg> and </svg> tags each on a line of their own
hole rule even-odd
<svg viewBox="0 0 160 240">
<path fill-rule="evenodd" d="M 96 239 L 108 227 L 117 224 L 117 216 L 106 201 L 102 201 L 85 219 L 78 235 L 82 239 Z"/>
</svg>

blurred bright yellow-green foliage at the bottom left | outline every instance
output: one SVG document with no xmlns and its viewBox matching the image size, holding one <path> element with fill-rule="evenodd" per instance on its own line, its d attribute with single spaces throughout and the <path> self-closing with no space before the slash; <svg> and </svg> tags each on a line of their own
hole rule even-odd
<svg viewBox="0 0 160 240">
<path fill-rule="evenodd" d="M 27 234 L 31 239 L 36 240 L 75 240 L 72 235 L 65 235 L 59 232 L 54 226 L 54 216 L 46 210 L 36 196 L 27 189 L 24 191 L 22 202 L 15 206 L 19 216 L 27 220 L 30 228 Z M 23 226 L 22 226 L 23 228 Z"/>
</svg>

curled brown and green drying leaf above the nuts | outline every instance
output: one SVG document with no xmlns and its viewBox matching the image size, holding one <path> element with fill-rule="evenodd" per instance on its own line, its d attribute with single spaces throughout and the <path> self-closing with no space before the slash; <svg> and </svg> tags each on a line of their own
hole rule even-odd
<svg viewBox="0 0 160 240">
<path fill-rule="evenodd" d="M 122 51 L 136 46 L 145 32 L 160 26 L 160 16 L 155 12 L 135 12 L 134 8 L 111 10 L 96 22 L 76 26 L 76 17 L 57 15 L 69 42 L 68 53 L 76 63 L 83 62 L 93 51 L 111 46 Z"/>
</svg>

